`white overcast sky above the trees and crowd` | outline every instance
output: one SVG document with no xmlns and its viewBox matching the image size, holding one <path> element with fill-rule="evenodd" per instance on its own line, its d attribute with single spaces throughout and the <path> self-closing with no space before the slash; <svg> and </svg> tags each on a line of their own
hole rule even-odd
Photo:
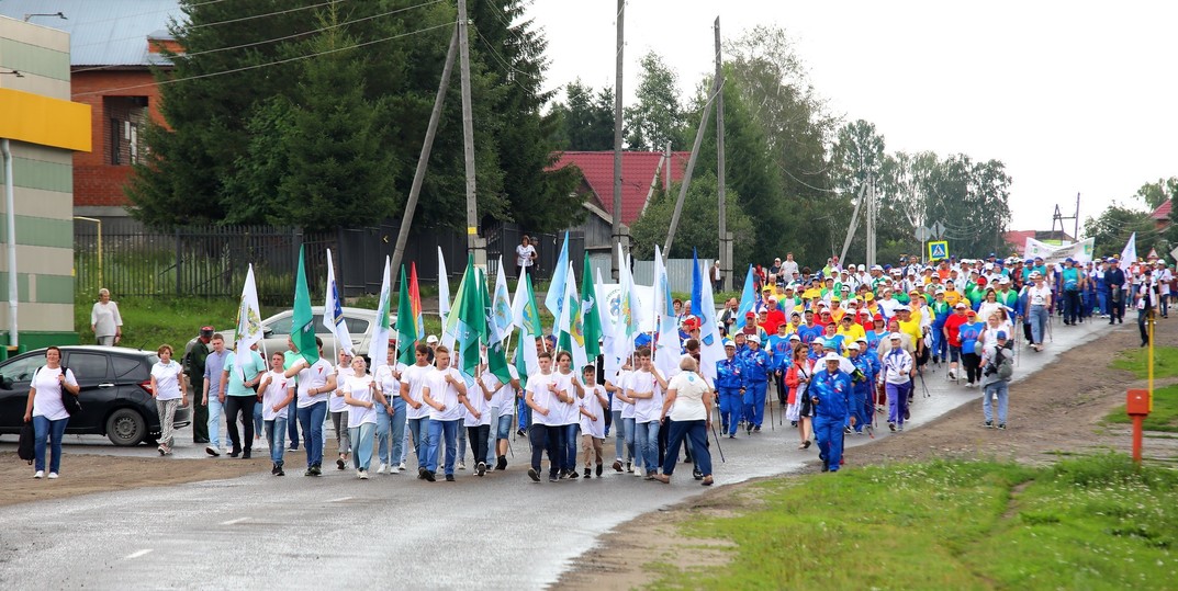
<svg viewBox="0 0 1178 591">
<path fill-rule="evenodd" d="M 614 86 L 615 13 L 613 0 L 535 0 L 550 86 Z M 888 152 L 1005 162 L 1011 230 L 1050 230 L 1077 193 L 1081 226 L 1113 200 L 1144 208 L 1141 184 L 1178 175 L 1178 2 L 630 0 L 627 104 L 651 49 L 691 95 L 714 71 L 717 15 L 726 38 L 783 27 L 830 112 L 875 124 Z"/>
</svg>

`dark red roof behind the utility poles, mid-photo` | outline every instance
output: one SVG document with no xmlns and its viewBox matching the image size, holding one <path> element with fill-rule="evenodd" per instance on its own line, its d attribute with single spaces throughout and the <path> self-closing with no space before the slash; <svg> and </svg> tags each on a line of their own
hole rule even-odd
<svg viewBox="0 0 1178 591">
<path fill-rule="evenodd" d="M 683 179 L 690 152 L 671 152 L 671 181 Z M 563 152 L 552 168 L 576 165 L 593 192 L 595 205 L 608 214 L 614 212 L 614 152 Z M 650 194 L 651 182 L 662 181 L 662 152 L 622 152 L 622 224 L 634 224 Z"/>
</svg>

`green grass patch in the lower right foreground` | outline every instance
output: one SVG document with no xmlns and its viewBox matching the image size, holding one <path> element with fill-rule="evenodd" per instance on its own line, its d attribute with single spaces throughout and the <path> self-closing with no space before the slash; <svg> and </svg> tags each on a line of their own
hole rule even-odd
<svg viewBox="0 0 1178 591">
<path fill-rule="evenodd" d="M 872 466 L 749 493 L 741 514 L 681 526 L 734 543 L 717 550 L 726 564 L 653 563 L 650 587 L 1173 589 L 1178 577 L 1178 472 L 1125 456 Z"/>
</svg>

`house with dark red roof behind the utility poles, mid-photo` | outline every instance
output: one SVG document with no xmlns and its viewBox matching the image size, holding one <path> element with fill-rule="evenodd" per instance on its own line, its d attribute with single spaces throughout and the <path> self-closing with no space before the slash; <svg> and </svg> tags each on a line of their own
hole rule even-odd
<svg viewBox="0 0 1178 591">
<path fill-rule="evenodd" d="M 622 152 L 622 225 L 630 226 L 642 215 L 660 182 L 683 180 L 690 152 Z M 570 232 L 583 232 L 585 250 L 604 253 L 613 247 L 614 212 L 614 152 L 564 152 L 552 165 L 563 168 L 574 165 L 581 170 L 582 181 L 577 192 L 584 199 L 588 219 Z"/>
</svg>

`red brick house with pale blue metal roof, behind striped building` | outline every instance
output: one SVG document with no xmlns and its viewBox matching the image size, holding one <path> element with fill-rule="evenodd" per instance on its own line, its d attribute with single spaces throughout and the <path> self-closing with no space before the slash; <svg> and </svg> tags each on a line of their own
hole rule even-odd
<svg viewBox="0 0 1178 591">
<path fill-rule="evenodd" d="M 68 33 L 65 79 L 72 99 L 91 107 L 94 147 L 74 153 L 74 214 L 125 218 L 123 187 L 146 154 L 144 130 L 164 122 L 152 68 L 171 67 L 161 49 L 179 51 L 167 31 L 184 18 L 179 1 L 4 0 L 0 14 Z"/>
</svg>

